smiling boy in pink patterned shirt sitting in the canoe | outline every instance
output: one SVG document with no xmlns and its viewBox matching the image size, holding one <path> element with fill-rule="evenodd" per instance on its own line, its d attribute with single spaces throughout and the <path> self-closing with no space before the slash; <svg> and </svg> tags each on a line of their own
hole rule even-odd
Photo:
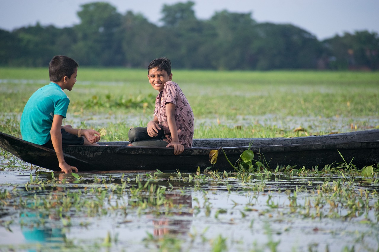
<svg viewBox="0 0 379 252">
<path fill-rule="evenodd" d="M 132 128 L 128 132 L 129 146 L 174 147 L 179 155 L 184 147 L 192 147 L 194 116 L 182 90 L 172 82 L 171 62 L 158 58 L 150 62 L 148 78 L 159 94 L 155 100 L 154 119 L 147 128 Z"/>
</svg>

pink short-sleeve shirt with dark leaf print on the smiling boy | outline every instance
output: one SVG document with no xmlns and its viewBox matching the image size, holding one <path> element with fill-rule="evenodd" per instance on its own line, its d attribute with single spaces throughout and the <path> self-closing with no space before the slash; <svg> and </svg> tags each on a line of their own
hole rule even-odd
<svg viewBox="0 0 379 252">
<path fill-rule="evenodd" d="M 178 129 L 179 142 L 184 147 L 192 147 L 194 132 L 194 116 L 191 106 L 179 85 L 173 81 L 164 84 L 155 100 L 154 116 L 157 116 L 161 128 L 166 134 L 168 142 L 172 142 L 168 128 L 166 103 L 175 104 L 175 122 Z"/>
</svg>

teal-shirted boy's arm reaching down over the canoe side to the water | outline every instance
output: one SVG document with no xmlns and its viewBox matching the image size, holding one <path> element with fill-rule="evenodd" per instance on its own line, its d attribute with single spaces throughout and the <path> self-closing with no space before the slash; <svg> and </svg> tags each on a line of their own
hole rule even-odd
<svg viewBox="0 0 379 252">
<path fill-rule="evenodd" d="M 78 169 L 75 166 L 70 166 L 66 163 L 66 161 L 64 161 L 61 133 L 62 120 L 63 116 L 54 115 L 53 124 L 50 130 L 51 142 L 53 143 L 56 157 L 58 158 L 59 167 L 62 169 L 62 171 L 64 171 L 64 173 L 71 173 L 72 170 L 78 172 Z"/>
</svg>

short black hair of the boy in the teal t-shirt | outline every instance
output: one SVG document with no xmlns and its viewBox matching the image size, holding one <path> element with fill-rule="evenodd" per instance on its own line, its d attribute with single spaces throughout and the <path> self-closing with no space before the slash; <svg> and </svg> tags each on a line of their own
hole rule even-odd
<svg viewBox="0 0 379 252">
<path fill-rule="evenodd" d="M 79 64 L 67 56 L 54 56 L 49 64 L 50 81 L 61 81 L 64 76 L 70 78 L 71 75 L 75 72 L 75 69 L 78 67 Z"/>
</svg>

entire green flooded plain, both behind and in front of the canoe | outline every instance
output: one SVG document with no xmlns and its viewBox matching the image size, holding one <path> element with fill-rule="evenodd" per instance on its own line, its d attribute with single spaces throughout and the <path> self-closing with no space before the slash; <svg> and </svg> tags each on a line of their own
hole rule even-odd
<svg viewBox="0 0 379 252">
<path fill-rule="evenodd" d="M 195 138 L 379 128 L 379 72 L 173 68 Z M 45 68 L 0 68 L 0 131 L 20 137 Z M 65 124 L 128 140 L 152 118 L 147 71 L 79 67 Z M 233 160 L 236 161 L 236 160 Z M 78 167 L 80 170 L 80 167 Z M 111 169 L 110 169 L 111 170 Z M 52 173 L 0 149 L 0 251 L 378 251 L 378 163 L 196 174 Z"/>
</svg>

